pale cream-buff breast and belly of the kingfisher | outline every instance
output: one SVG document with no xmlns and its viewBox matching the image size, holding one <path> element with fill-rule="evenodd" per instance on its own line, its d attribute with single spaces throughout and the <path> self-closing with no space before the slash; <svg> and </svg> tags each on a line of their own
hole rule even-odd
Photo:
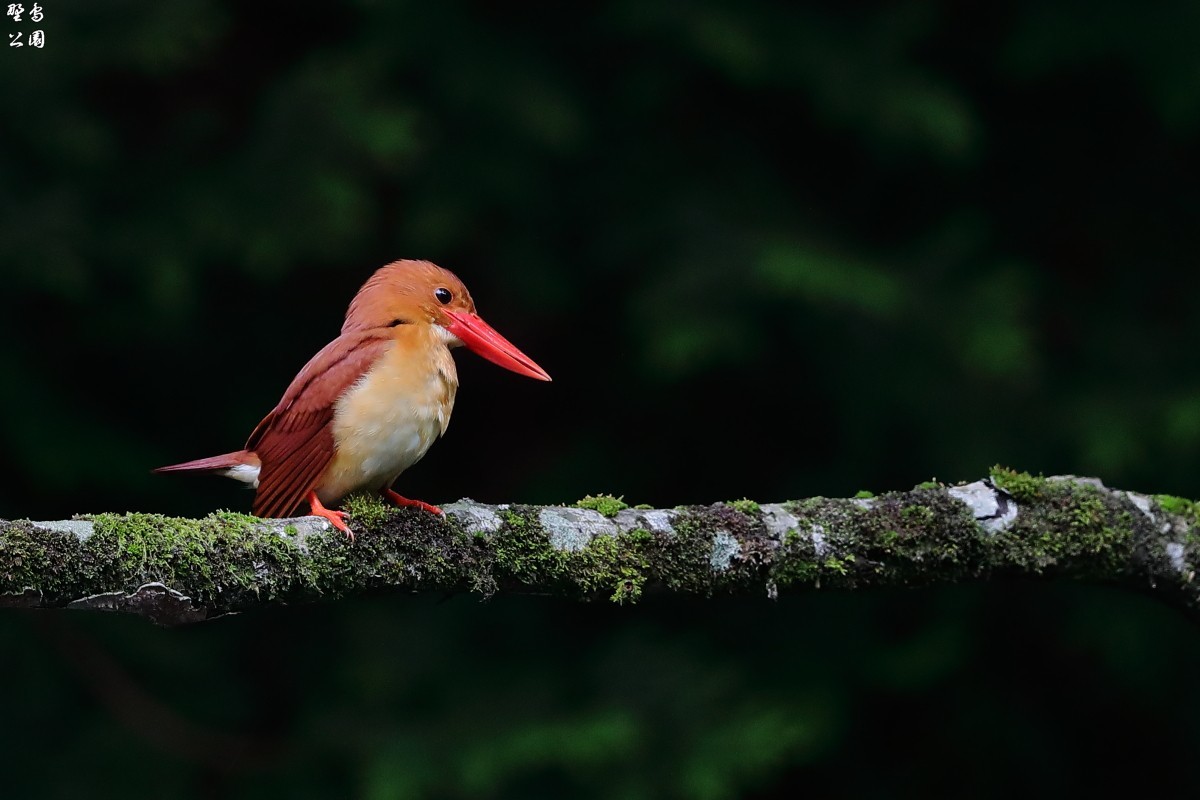
<svg viewBox="0 0 1200 800">
<path fill-rule="evenodd" d="M 337 401 L 335 455 L 317 487 L 332 503 L 379 491 L 420 461 L 450 423 L 458 378 L 450 351 L 397 342 Z M 414 356 L 420 353 L 420 356 Z"/>
</svg>

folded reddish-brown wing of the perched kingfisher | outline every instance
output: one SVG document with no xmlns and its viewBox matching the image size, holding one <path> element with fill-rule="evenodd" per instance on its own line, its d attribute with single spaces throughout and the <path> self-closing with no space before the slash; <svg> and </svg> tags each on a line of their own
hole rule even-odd
<svg viewBox="0 0 1200 800">
<path fill-rule="evenodd" d="M 286 517 L 299 506 L 334 458 L 337 399 L 388 350 L 382 331 L 346 333 L 314 355 L 246 441 L 263 465 L 254 494 L 259 517 Z"/>
</svg>

